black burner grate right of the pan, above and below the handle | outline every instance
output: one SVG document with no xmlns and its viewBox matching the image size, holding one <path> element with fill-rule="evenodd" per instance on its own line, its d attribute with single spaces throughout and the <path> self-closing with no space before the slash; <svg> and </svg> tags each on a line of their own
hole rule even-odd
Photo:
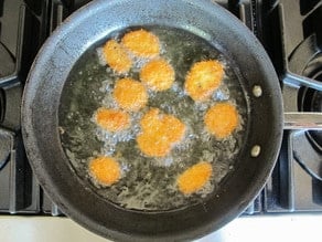
<svg viewBox="0 0 322 242">
<path fill-rule="evenodd" d="M 321 112 L 321 3 L 279 0 L 269 11 L 268 22 L 278 38 L 270 39 L 267 50 L 282 81 L 286 112 Z M 268 212 L 322 211 L 322 152 L 313 145 L 312 133 L 318 134 L 285 131 L 280 157 L 266 189 Z"/>
</svg>

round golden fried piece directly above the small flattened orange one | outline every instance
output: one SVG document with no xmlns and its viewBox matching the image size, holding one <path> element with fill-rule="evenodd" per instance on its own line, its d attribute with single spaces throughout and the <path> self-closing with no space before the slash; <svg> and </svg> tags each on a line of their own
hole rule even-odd
<svg viewBox="0 0 322 242">
<path fill-rule="evenodd" d="M 137 112 L 148 102 L 146 86 L 132 78 L 121 78 L 115 84 L 112 96 L 120 108 L 128 112 Z"/>
</svg>

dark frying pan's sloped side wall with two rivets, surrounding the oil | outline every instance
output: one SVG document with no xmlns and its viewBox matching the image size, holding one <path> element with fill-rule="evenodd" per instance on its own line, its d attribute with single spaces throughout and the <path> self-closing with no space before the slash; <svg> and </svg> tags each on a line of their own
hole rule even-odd
<svg viewBox="0 0 322 242">
<path fill-rule="evenodd" d="M 61 94 L 72 67 L 94 43 L 132 25 L 183 29 L 219 44 L 236 61 L 249 98 L 238 167 L 216 196 L 184 209 L 144 212 L 117 207 L 75 175 L 58 134 Z M 275 70 L 250 31 L 208 0 L 98 0 L 71 15 L 45 42 L 24 90 L 22 131 L 33 171 L 52 200 L 83 227 L 118 241 L 192 240 L 213 232 L 257 196 L 277 159 L 282 99 Z"/>
</svg>

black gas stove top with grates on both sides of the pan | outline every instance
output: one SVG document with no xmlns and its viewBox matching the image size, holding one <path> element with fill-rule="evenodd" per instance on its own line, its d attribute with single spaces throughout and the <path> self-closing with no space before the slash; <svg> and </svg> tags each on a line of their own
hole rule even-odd
<svg viewBox="0 0 322 242">
<path fill-rule="evenodd" d="M 0 1 L 0 214 L 63 215 L 37 185 L 21 137 L 31 63 L 51 32 L 89 0 Z M 286 112 L 322 111 L 322 2 L 216 0 L 261 41 Z M 322 131 L 285 130 L 271 177 L 244 214 L 322 211 Z"/>
</svg>

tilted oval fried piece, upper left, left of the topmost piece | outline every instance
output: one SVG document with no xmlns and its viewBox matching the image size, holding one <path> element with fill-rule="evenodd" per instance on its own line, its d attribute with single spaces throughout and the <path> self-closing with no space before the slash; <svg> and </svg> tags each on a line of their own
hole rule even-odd
<svg viewBox="0 0 322 242">
<path fill-rule="evenodd" d="M 115 40 L 105 43 L 103 53 L 106 63 L 117 73 L 127 73 L 132 66 L 126 49 Z"/>
</svg>

